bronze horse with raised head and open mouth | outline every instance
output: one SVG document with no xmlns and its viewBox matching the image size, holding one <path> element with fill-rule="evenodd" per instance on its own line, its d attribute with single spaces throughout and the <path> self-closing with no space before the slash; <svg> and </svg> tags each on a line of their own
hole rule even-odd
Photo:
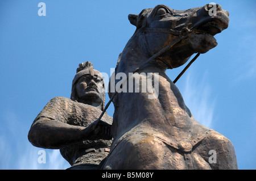
<svg viewBox="0 0 256 181">
<path fill-rule="evenodd" d="M 157 77 L 158 94 L 149 98 L 152 91 L 141 91 L 142 85 L 139 92 L 118 91 L 113 144 L 101 169 L 237 169 L 232 142 L 195 120 L 166 75 L 194 53 L 216 47 L 214 35 L 228 28 L 229 12 L 220 5 L 214 10 L 210 13 L 210 4 L 188 10 L 158 5 L 128 16 L 136 30 L 119 55 L 115 75 L 134 73 L 134 83 Z"/>
</svg>

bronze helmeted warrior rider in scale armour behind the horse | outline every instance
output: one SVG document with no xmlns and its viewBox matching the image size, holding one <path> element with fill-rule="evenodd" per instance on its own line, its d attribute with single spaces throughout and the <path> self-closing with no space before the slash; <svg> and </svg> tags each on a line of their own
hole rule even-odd
<svg viewBox="0 0 256 181">
<path fill-rule="evenodd" d="M 109 153 L 112 117 L 104 114 L 105 84 L 102 74 L 89 61 L 79 64 L 72 82 L 71 99 L 50 100 L 36 117 L 28 133 L 32 145 L 60 149 L 69 169 L 98 169 Z"/>
</svg>

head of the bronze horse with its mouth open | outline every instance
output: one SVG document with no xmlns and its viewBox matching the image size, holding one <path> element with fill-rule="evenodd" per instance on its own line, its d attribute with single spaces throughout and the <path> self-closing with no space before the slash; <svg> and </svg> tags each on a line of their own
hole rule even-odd
<svg viewBox="0 0 256 181">
<path fill-rule="evenodd" d="M 130 14 L 130 23 L 137 27 L 134 35 L 142 35 L 144 49 L 152 56 L 177 37 L 179 43 L 158 56 L 167 68 L 177 68 L 193 53 L 206 53 L 216 47 L 214 35 L 228 28 L 229 12 L 220 5 L 208 4 L 188 10 L 174 10 L 164 5 L 144 9 L 139 15 Z"/>
</svg>

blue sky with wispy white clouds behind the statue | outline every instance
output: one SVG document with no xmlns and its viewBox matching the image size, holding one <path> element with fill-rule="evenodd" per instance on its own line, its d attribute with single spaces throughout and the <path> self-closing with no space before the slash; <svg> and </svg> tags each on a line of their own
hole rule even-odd
<svg viewBox="0 0 256 181">
<path fill-rule="evenodd" d="M 38 3 L 46 16 L 38 16 Z M 55 96 L 69 98 L 77 66 L 108 73 L 135 31 L 129 14 L 163 4 L 184 10 L 219 3 L 230 13 L 218 45 L 176 83 L 196 120 L 233 142 L 238 169 L 256 169 L 256 2 L 0 1 L 0 169 L 67 169 L 59 150 L 28 142 L 32 121 Z M 184 68 L 167 70 L 174 80 Z M 109 98 L 106 96 L 106 102 Z M 111 104 L 108 113 L 114 112 Z"/>
</svg>

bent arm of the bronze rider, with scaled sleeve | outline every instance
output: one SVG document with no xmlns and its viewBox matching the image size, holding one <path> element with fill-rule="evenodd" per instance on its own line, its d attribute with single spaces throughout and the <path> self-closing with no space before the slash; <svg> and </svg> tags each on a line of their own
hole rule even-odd
<svg viewBox="0 0 256 181">
<path fill-rule="evenodd" d="M 94 129 L 93 123 L 87 127 L 68 124 L 68 119 L 71 119 L 68 113 L 72 111 L 69 107 L 67 103 L 52 99 L 31 125 L 28 132 L 31 144 L 40 148 L 60 149 L 82 140 L 106 139 L 110 125 L 103 121 Z"/>
</svg>

